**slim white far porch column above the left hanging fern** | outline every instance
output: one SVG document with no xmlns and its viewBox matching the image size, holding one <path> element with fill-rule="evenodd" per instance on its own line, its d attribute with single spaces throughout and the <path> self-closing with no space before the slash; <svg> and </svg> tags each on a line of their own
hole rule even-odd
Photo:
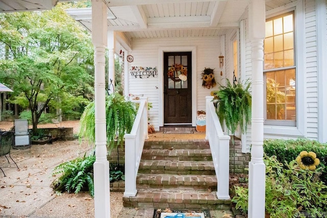
<svg viewBox="0 0 327 218">
<path fill-rule="evenodd" d="M 108 30 L 108 89 L 109 93 L 115 88 L 114 81 L 114 31 Z M 110 84 L 112 83 L 112 85 Z"/>
</svg>

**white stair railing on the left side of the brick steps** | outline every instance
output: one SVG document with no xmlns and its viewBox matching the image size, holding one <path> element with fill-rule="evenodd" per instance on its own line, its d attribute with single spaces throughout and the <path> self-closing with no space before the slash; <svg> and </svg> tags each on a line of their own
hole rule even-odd
<svg viewBox="0 0 327 218">
<path fill-rule="evenodd" d="M 131 133 L 125 134 L 125 192 L 124 196 L 136 196 L 136 175 L 144 142 L 148 139 L 148 101 L 141 97 Z"/>
</svg>

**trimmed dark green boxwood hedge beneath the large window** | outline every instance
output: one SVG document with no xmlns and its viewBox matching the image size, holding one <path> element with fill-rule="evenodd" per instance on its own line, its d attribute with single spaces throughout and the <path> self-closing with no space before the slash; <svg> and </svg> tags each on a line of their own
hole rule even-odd
<svg viewBox="0 0 327 218">
<path fill-rule="evenodd" d="M 281 163 L 295 160 L 301 151 L 314 152 L 320 160 L 317 166 L 321 171 L 320 179 L 327 184 L 327 143 L 310 139 L 268 139 L 264 141 L 267 156 L 275 155 Z"/>
</svg>

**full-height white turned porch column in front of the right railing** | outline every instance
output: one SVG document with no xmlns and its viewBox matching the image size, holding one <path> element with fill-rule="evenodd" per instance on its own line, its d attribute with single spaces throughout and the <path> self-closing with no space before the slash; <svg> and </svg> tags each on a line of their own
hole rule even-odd
<svg viewBox="0 0 327 218">
<path fill-rule="evenodd" d="M 265 0 L 250 0 L 249 37 L 252 47 L 252 147 L 251 161 L 249 162 L 249 218 L 265 217 L 266 166 L 263 161 L 263 40 L 265 38 L 265 21 Z"/>
</svg>

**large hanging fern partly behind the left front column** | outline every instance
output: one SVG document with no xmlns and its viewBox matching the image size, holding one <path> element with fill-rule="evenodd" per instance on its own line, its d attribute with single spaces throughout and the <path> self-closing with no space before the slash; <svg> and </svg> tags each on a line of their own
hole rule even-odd
<svg viewBox="0 0 327 218">
<path fill-rule="evenodd" d="M 107 147 L 110 150 L 122 144 L 125 133 L 132 130 L 135 116 L 135 103 L 126 101 L 119 93 L 106 96 Z M 94 143 L 95 129 L 95 102 L 91 102 L 81 116 L 79 138 L 86 138 Z"/>
</svg>

